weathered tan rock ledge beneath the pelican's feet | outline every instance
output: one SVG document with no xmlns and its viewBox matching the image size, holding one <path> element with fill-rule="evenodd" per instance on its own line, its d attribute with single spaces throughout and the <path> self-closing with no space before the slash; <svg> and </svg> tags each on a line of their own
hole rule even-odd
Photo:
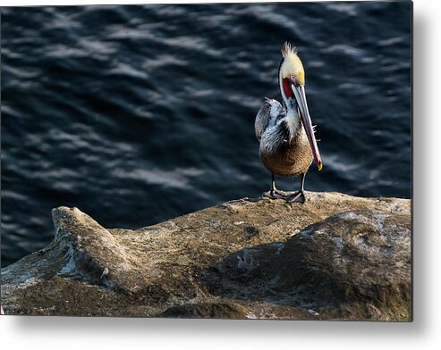
<svg viewBox="0 0 441 350">
<path fill-rule="evenodd" d="M 410 200 L 307 196 L 136 230 L 54 209 L 54 241 L 2 270 L 4 312 L 410 321 Z"/>
</svg>

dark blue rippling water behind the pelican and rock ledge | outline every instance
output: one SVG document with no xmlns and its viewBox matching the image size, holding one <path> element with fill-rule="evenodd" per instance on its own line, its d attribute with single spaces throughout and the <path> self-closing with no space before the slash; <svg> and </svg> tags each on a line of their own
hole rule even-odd
<svg viewBox="0 0 441 350">
<path fill-rule="evenodd" d="M 2 8 L 1 29 L 3 266 L 59 205 L 139 228 L 267 190 L 254 118 L 284 40 L 321 139 L 306 188 L 411 196 L 410 3 Z"/>
</svg>

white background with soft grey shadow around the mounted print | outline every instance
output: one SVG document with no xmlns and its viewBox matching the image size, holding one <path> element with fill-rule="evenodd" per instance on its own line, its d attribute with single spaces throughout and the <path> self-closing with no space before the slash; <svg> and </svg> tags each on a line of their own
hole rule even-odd
<svg viewBox="0 0 441 350">
<path fill-rule="evenodd" d="M 196 3 L 198 1 L 158 1 Z M 209 2 L 209 1 L 208 1 Z M 231 1 L 224 1 L 231 2 Z M 249 1 L 243 1 L 249 2 Z M 146 4 L 148 1 L 21 1 L 0 5 Z M 198 2 L 199 3 L 199 2 Z M 414 321 L 148 320 L 69 317 L 0 317 L 4 349 L 436 349 L 439 324 L 441 229 L 441 20 L 440 2 L 414 1 Z M 381 79 L 381 77 L 378 77 Z"/>
</svg>

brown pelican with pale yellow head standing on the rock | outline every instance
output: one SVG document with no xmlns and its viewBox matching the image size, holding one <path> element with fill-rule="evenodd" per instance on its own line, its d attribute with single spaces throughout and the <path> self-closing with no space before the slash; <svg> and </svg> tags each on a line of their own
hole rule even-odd
<svg viewBox="0 0 441 350">
<path fill-rule="evenodd" d="M 260 108 L 254 129 L 260 141 L 260 160 L 272 174 L 270 196 L 284 196 L 276 189 L 275 175 L 301 176 L 301 189 L 288 200 L 305 201 L 306 172 L 312 160 L 322 168 L 314 129 L 305 95 L 305 71 L 297 50 L 289 43 L 282 47 L 284 58 L 279 66 L 278 79 L 283 104 L 266 99 Z"/>
</svg>

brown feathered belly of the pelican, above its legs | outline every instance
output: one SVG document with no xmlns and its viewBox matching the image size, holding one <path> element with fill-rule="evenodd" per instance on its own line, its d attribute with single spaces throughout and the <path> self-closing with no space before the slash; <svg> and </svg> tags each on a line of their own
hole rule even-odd
<svg viewBox="0 0 441 350">
<path fill-rule="evenodd" d="M 278 176 L 306 173 L 312 163 L 312 151 L 305 129 L 299 128 L 291 142 L 284 142 L 275 150 L 260 148 L 260 160 L 268 171 Z"/>
</svg>

